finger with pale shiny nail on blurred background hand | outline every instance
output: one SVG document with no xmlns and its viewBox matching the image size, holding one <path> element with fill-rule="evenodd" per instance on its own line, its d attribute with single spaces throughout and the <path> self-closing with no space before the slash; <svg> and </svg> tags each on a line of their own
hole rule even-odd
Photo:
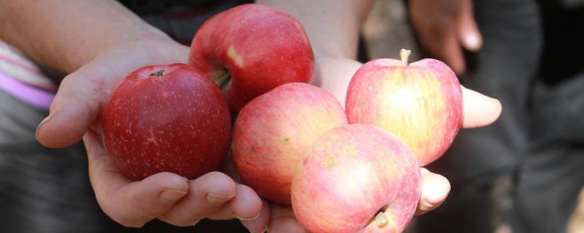
<svg viewBox="0 0 584 233">
<path fill-rule="evenodd" d="M 461 4 L 458 36 L 465 49 L 476 52 L 483 46 L 483 36 L 474 20 L 473 3 L 470 0 L 463 0 Z"/>
</svg>

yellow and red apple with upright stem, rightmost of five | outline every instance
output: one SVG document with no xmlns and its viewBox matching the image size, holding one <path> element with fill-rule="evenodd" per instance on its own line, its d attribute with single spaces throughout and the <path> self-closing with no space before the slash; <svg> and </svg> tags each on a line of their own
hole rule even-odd
<svg viewBox="0 0 584 233">
<path fill-rule="evenodd" d="M 443 156 L 463 124 L 463 94 L 453 70 L 435 59 L 408 65 L 377 59 L 361 66 L 349 82 L 349 123 L 373 124 L 399 137 L 420 166 Z"/>
</svg>

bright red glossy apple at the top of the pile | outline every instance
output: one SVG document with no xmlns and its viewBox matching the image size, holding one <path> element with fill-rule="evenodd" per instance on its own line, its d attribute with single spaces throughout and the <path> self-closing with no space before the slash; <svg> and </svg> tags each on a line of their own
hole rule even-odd
<svg viewBox="0 0 584 233">
<path fill-rule="evenodd" d="M 224 89 L 233 113 L 276 86 L 309 83 L 314 63 L 303 25 L 260 4 L 238 5 L 205 21 L 189 56 L 189 65 Z"/>
</svg>

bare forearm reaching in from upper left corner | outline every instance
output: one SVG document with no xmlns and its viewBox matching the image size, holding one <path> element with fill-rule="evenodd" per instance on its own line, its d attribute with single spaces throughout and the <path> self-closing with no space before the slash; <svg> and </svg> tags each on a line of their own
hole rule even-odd
<svg viewBox="0 0 584 233">
<path fill-rule="evenodd" d="M 65 72 L 78 69 L 110 46 L 168 37 L 117 1 L 0 0 L 0 5 L 0 38 L 26 56 Z"/>
</svg>

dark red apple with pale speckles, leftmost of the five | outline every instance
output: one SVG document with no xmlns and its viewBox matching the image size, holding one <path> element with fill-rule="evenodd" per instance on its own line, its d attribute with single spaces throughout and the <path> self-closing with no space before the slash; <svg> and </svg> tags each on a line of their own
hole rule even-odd
<svg viewBox="0 0 584 233">
<path fill-rule="evenodd" d="M 102 127 L 106 150 L 126 177 L 172 172 L 193 179 L 223 165 L 231 119 L 208 76 L 172 64 L 144 66 L 122 79 L 103 109 Z"/>
</svg>

